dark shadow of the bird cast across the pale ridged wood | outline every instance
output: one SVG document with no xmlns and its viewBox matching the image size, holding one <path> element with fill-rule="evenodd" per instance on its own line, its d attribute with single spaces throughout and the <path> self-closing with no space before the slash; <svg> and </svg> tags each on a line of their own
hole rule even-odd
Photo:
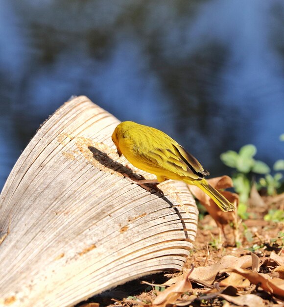
<svg viewBox="0 0 284 307">
<path fill-rule="evenodd" d="M 103 166 L 110 168 L 112 170 L 114 170 L 115 172 L 118 172 L 119 174 L 123 175 L 124 177 L 129 177 L 130 179 L 135 179 L 135 180 L 139 180 L 142 179 L 142 176 L 133 172 L 130 168 L 124 166 L 123 164 L 114 161 L 112 158 L 110 158 L 106 153 L 100 151 L 99 149 L 95 148 L 94 146 L 89 146 L 88 149 L 93 153 L 93 157 L 94 159 L 96 159 L 100 164 L 102 164 Z M 133 184 L 135 184 L 133 182 Z M 138 184 L 138 183 L 137 183 Z M 178 208 L 164 195 L 164 193 L 162 192 L 161 194 L 161 190 L 159 188 L 157 188 L 157 184 L 153 184 L 153 183 L 146 183 L 143 185 L 140 185 L 143 189 L 145 189 L 146 191 L 150 192 L 151 194 L 155 194 L 159 197 L 161 197 L 164 201 L 166 201 L 166 203 L 168 203 L 170 205 L 171 208 L 174 209 L 174 211 L 176 212 L 176 214 L 178 215 L 183 229 L 185 231 L 185 235 L 186 235 L 186 239 L 189 238 L 188 232 L 187 232 L 187 227 L 186 224 L 183 220 L 183 217 L 181 216 L 181 213 L 179 212 Z"/>
</svg>

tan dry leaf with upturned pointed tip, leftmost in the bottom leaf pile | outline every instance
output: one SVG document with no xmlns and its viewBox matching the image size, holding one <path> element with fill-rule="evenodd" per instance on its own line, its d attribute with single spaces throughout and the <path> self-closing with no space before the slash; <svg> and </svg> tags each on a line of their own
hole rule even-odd
<svg viewBox="0 0 284 307">
<path fill-rule="evenodd" d="M 189 275 L 193 271 L 193 267 L 189 273 L 183 275 L 181 281 L 177 281 L 174 285 L 166 288 L 165 291 L 160 292 L 155 300 L 152 302 L 152 306 L 166 307 L 170 304 L 175 304 L 177 299 L 185 292 L 192 290 L 191 282 L 189 281 Z"/>
</svg>

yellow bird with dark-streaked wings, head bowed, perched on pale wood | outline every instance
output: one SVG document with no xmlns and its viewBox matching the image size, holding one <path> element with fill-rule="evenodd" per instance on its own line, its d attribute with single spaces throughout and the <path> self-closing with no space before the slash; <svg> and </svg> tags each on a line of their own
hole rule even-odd
<svg viewBox="0 0 284 307">
<path fill-rule="evenodd" d="M 204 179 L 209 172 L 163 131 L 127 121 L 115 128 L 112 140 L 119 157 L 123 154 L 135 167 L 157 176 L 157 180 L 139 180 L 138 184 L 181 180 L 198 186 L 223 211 L 235 210 L 235 206 Z"/>
</svg>

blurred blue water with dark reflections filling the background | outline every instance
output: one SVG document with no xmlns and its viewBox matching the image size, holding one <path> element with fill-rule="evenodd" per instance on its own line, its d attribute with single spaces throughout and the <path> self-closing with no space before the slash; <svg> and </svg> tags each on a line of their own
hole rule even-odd
<svg viewBox="0 0 284 307">
<path fill-rule="evenodd" d="M 213 175 L 284 158 L 282 0 L 0 0 L 0 189 L 71 95 L 164 130 Z"/>
</svg>

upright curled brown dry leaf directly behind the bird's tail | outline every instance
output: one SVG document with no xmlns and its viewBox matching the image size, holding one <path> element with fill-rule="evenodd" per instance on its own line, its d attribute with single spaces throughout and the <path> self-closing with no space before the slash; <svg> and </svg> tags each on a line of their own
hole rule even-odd
<svg viewBox="0 0 284 307">
<path fill-rule="evenodd" d="M 233 181 L 229 176 L 216 177 L 212 179 L 208 179 L 208 182 L 218 190 L 227 200 L 231 203 L 234 203 L 235 206 L 238 204 L 238 195 L 236 193 L 232 193 L 229 191 L 223 191 L 220 189 L 226 189 L 233 187 Z M 205 194 L 202 190 L 200 190 L 197 186 L 189 185 L 189 190 L 196 197 L 199 202 L 204 205 L 209 212 L 209 214 L 215 220 L 217 226 L 224 232 L 224 226 L 233 222 L 236 224 L 237 213 L 236 211 L 224 212 L 222 211 L 214 201 Z M 235 233 L 236 236 L 236 233 Z M 237 240 L 237 238 L 235 238 Z"/>
</svg>

